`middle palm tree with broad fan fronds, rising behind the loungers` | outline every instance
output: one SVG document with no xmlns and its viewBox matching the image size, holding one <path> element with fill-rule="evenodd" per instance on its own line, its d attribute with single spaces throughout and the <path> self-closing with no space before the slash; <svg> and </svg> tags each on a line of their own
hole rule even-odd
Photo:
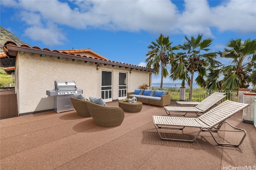
<svg viewBox="0 0 256 170">
<path fill-rule="evenodd" d="M 202 39 L 202 34 L 198 35 L 197 38 L 191 37 L 188 39 L 185 36 L 186 42 L 178 47 L 184 50 L 184 53 L 178 53 L 172 61 L 172 69 L 170 70 L 170 78 L 173 80 L 180 79 L 184 86 L 185 81 L 188 82 L 190 87 L 189 100 L 192 98 L 192 88 L 194 73 L 198 72 L 198 77 L 195 79 L 199 86 L 205 86 L 204 77 L 207 75 L 208 66 L 213 66 L 218 61 L 214 60 L 216 58 L 216 53 L 202 53 L 201 51 L 209 51 L 208 48 L 212 39 Z"/>
</svg>

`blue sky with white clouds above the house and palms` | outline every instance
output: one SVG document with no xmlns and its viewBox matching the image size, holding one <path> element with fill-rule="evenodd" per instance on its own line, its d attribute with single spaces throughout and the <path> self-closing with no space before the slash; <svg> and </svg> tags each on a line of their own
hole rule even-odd
<svg viewBox="0 0 256 170">
<path fill-rule="evenodd" d="M 230 39 L 256 39 L 255 0 L 1 0 L 0 17 L 2 27 L 32 47 L 90 48 L 139 66 L 146 66 L 147 47 L 160 33 L 172 46 L 204 34 L 214 39 L 212 52 Z"/>
</svg>

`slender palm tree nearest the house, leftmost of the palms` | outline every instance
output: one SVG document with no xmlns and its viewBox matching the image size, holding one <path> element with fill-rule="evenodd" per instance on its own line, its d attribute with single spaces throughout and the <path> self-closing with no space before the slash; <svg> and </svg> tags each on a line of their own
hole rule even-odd
<svg viewBox="0 0 256 170">
<path fill-rule="evenodd" d="M 146 54 L 147 67 L 153 66 L 153 68 L 156 69 L 156 72 L 154 72 L 155 75 L 159 74 L 161 67 L 160 88 L 162 89 L 163 78 L 168 76 L 166 66 L 170 63 L 170 59 L 175 55 L 172 51 L 177 50 L 178 47 L 171 47 L 172 42 L 170 42 L 169 36 L 164 37 L 162 34 L 156 39 L 156 43 L 154 41 L 151 43 L 152 45 L 148 46 L 148 49 L 151 49 L 151 51 L 148 51 Z"/>
</svg>

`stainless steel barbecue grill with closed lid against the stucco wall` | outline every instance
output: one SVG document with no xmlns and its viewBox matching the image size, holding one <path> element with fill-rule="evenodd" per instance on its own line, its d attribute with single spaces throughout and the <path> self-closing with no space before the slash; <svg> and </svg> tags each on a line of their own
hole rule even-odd
<svg viewBox="0 0 256 170">
<path fill-rule="evenodd" d="M 82 94 L 82 89 L 77 89 L 74 81 L 54 81 L 55 90 L 46 90 L 46 95 L 54 96 L 54 111 L 57 113 L 74 110 L 70 96 Z"/>
</svg>

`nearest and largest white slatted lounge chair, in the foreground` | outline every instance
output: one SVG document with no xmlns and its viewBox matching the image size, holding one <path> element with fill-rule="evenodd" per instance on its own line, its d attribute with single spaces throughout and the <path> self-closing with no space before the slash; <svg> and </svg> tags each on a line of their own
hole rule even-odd
<svg viewBox="0 0 256 170">
<path fill-rule="evenodd" d="M 232 145 L 238 147 L 244 141 L 246 137 L 246 131 L 244 129 L 240 129 L 237 127 L 232 126 L 230 123 L 226 121 L 232 115 L 238 113 L 238 111 L 243 110 L 245 107 L 248 107 L 249 104 L 243 104 L 238 102 L 232 102 L 230 100 L 226 100 L 222 104 L 210 109 L 207 113 L 204 113 L 202 116 L 198 118 L 191 118 L 191 117 L 170 117 L 170 116 L 153 116 L 153 122 L 158 132 L 158 135 L 163 140 L 171 140 L 171 141 L 185 141 L 185 142 L 194 142 L 201 131 L 210 132 L 214 141 L 218 145 Z M 236 130 L 225 130 L 220 129 L 223 123 L 227 123 L 231 127 Z M 200 128 L 194 139 L 173 139 L 173 138 L 166 138 L 162 137 L 159 132 L 159 128 L 164 129 L 184 129 L 184 127 L 196 127 Z M 216 127 L 216 128 L 215 128 Z M 227 127 L 226 127 L 227 128 Z M 232 132 L 244 132 L 244 136 L 242 137 L 241 141 L 238 144 L 234 143 L 220 143 L 216 140 L 212 132 L 218 131 L 232 131 Z M 184 135 L 184 134 L 182 134 Z M 169 135 L 168 135 L 169 136 Z M 226 141 L 226 140 L 225 140 Z"/>
</svg>

